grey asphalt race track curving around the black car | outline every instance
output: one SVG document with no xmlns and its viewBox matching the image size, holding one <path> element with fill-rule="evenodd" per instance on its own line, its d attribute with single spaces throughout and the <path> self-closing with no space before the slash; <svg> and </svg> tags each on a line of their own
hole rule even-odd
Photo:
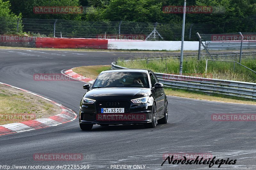
<svg viewBox="0 0 256 170">
<path fill-rule="evenodd" d="M 35 73 L 60 73 L 84 65 L 111 64 L 117 58 L 150 53 L 0 50 L 0 82 L 55 100 L 78 113 L 85 93 L 80 81 L 34 81 Z M 155 55 L 168 55 L 159 53 Z M 226 169 L 256 168 L 255 122 L 215 122 L 212 113 L 256 113 L 256 106 L 168 97 L 169 122 L 145 129 L 143 125 L 94 125 L 81 131 L 78 119 L 59 126 L 0 137 L 1 165 L 146 165 L 145 169 L 208 169 L 209 165 L 163 166 L 164 153 L 210 153 L 237 159 Z M 35 153 L 82 153 L 82 161 L 35 161 Z M 143 167 L 143 166 L 142 166 Z M 217 166 L 212 166 L 215 169 Z M 113 168 L 112 168 L 113 169 Z M 219 168 L 218 168 L 219 169 Z"/>
</svg>

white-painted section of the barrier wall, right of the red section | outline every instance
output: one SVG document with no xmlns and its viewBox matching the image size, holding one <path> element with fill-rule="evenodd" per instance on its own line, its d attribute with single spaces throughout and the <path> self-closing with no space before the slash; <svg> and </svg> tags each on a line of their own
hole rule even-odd
<svg viewBox="0 0 256 170">
<path fill-rule="evenodd" d="M 198 41 L 184 41 L 184 50 L 198 50 Z M 180 50 L 181 41 L 108 40 L 108 49 Z"/>
</svg>

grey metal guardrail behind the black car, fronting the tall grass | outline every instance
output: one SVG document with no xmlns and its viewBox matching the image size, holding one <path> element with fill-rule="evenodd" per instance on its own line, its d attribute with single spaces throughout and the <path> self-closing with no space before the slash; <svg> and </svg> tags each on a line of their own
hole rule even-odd
<svg viewBox="0 0 256 170">
<path fill-rule="evenodd" d="M 112 62 L 111 64 L 112 69 L 127 69 L 126 67 L 117 65 L 116 62 Z M 256 83 L 180 76 L 165 73 L 155 74 L 159 82 L 167 87 L 256 99 Z"/>
</svg>

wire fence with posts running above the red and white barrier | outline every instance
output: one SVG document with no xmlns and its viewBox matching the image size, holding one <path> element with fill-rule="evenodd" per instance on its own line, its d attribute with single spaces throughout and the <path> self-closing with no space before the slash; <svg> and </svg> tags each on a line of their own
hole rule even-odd
<svg viewBox="0 0 256 170">
<path fill-rule="evenodd" d="M 36 37 L 125 39 L 127 35 L 142 35 L 144 40 L 180 41 L 181 24 L 142 23 L 132 21 L 71 21 L 60 19 L 0 18 L 0 34 L 27 33 Z M 214 27 L 206 24 L 186 24 L 185 41 L 197 41 L 196 32 L 209 33 Z M 136 36 L 135 36 L 136 37 Z"/>
</svg>

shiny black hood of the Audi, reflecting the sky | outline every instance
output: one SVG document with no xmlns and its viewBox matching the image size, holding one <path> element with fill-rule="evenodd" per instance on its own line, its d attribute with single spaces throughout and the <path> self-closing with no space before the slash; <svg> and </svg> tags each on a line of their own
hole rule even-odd
<svg viewBox="0 0 256 170">
<path fill-rule="evenodd" d="M 150 94 L 151 90 L 148 88 L 113 87 L 92 89 L 86 92 L 84 97 L 92 100 L 131 100 Z"/>
</svg>

